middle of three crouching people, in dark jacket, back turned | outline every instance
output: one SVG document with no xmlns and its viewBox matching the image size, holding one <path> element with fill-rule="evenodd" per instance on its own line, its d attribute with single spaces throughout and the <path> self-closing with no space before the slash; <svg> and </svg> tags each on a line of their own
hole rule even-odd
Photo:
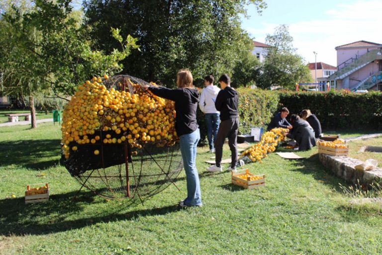
<svg viewBox="0 0 382 255">
<path fill-rule="evenodd" d="M 313 128 L 307 121 L 301 120 L 298 115 L 290 116 L 290 122 L 293 126 L 286 137 L 294 139 L 298 144 L 298 150 L 308 150 L 316 146 Z"/>
</svg>

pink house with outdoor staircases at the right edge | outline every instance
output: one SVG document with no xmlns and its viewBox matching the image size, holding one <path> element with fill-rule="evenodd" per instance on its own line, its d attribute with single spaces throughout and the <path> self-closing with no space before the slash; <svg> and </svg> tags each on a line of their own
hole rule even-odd
<svg viewBox="0 0 382 255">
<path fill-rule="evenodd" d="M 357 41 L 335 49 L 338 71 L 319 80 L 337 90 L 382 90 L 381 43 Z"/>
</svg>

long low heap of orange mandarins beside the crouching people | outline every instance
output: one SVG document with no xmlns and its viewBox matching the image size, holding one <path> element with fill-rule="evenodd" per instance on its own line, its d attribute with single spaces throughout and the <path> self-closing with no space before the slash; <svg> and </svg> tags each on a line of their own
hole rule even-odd
<svg viewBox="0 0 382 255">
<path fill-rule="evenodd" d="M 273 128 L 261 136 L 261 140 L 241 153 L 241 157 L 248 157 L 252 162 L 261 162 L 268 153 L 274 152 L 280 142 L 285 140 L 287 128 Z"/>
</svg>

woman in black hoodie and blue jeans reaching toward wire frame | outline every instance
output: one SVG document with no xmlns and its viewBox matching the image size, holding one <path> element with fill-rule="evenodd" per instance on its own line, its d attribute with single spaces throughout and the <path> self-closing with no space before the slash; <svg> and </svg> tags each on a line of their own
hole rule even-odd
<svg viewBox="0 0 382 255">
<path fill-rule="evenodd" d="M 199 175 L 196 169 L 196 146 L 200 140 L 196 122 L 196 109 L 199 93 L 192 85 L 192 74 L 181 70 L 177 75 L 178 89 L 146 86 L 154 95 L 175 101 L 175 129 L 180 138 L 183 165 L 187 179 L 187 198 L 179 206 L 201 206 Z"/>
</svg>

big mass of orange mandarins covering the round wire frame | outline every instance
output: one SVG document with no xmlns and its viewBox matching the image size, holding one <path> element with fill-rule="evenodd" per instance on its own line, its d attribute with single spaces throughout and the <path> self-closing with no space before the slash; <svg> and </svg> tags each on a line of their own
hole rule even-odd
<svg viewBox="0 0 382 255">
<path fill-rule="evenodd" d="M 71 151 L 89 143 L 127 142 L 138 149 L 145 143 L 175 144 L 174 102 L 131 82 L 132 91 L 107 89 L 103 84 L 107 79 L 104 75 L 86 81 L 65 107 L 61 142 L 66 159 Z"/>
</svg>

